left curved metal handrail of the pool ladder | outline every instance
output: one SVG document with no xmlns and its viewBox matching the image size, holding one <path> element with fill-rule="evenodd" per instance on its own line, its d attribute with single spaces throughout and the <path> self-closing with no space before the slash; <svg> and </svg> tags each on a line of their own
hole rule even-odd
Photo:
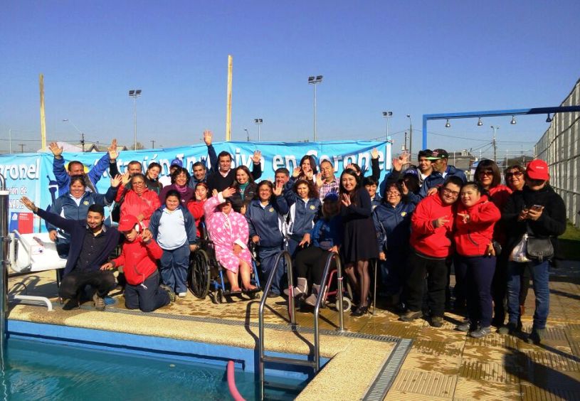
<svg viewBox="0 0 580 401">
<path fill-rule="evenodd" d="M 294 304 L 294 294 L 292 290 L 294 289 L 294 278 L 292 274 L 292 257 L 288 251 L 283 250 L 282 252 L 276 255 L 276 259 L 274 262 L 274 267 L 270 272 L 270 276 L 268 276 L 268 281 L 266 281 L 266 285 L 264 286 L 262 292 L 262 299 L 260 299 L 260 308 L 258 309 L 258 351 L 260 353 L 260 397 L 261 400 L 264 399 L 264 378 L 265 378 L 265 367 L 264 367 L 264 306 L 266 304 L 266 300 L 268 299 L 268 293 L 270 292 L 270 287 L 272 287 L 272 282 L 274 281 L 274 277 L 276 275 L 276 271 L 278 270 L 278 264 L 280 264 L 280 257 L 284 257 L 284 261 L 288 266 L 288 287 L 290 288 L 290 296 L 288 296 L 288 314 L 290 314 L 290 324 L 292 325 L 292 329 L 296 327 L 296 307 Z"/>
</svg>

